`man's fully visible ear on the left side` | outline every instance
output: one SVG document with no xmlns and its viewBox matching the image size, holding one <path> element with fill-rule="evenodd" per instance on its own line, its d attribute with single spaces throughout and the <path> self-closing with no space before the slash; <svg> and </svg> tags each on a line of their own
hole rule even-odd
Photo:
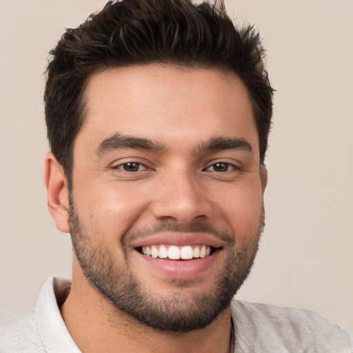
<svg viewBox="0 0 353 353">
<path fill-rule="evenodd" d="M 63 166 L 52 152 L 44 159 L 44 184 L 47 189 L 48 209 L 57 228 L 64 233 L 70 233 L 68 223 L 69 192 Z"/>
</svg>

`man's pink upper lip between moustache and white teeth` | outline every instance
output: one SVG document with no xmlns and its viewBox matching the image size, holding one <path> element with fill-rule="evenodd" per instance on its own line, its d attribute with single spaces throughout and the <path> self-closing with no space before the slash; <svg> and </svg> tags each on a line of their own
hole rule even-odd
<svg viewBox="0 0 353 353">
<path fill-rule="evenodd" d="M 165 232 L 148 236 L 145 239 L 137 240 L 132 243 L 132 248 L 141 246 L 151 246 L 159 244 L 168 244 L 176 246 L 185 245 L 209 245 L 213 248 L 221 248 L 224 242 L 211 234 L 205 233 L 180 233 Z"/>
</svg>

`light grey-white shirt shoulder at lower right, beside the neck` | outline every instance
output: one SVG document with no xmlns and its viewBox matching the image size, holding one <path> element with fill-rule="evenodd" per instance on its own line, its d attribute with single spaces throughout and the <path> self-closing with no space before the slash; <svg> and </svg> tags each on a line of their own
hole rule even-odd
<svg viewBox="0 0 353 353">
<path fill-rule="evenodd" d="M 232 301 L 235 330 L 254 343 L 254 352 L 352 353 L 347 332 L 310 310 Z M 265 350 L 267 349 L 267 350 Z"/>
</svg>

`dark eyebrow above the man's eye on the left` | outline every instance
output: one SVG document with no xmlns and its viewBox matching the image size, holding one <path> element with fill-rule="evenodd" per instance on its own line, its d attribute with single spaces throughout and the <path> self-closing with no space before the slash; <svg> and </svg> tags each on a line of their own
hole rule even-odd
<svg viewBox="0 0 353 353">
<path fill-rule="evenodd" d="M 165 146 L 161 143 L 155 143 L 150 139 L 143 139 L 140 137 L 123 136 L 121 134 L 115 133 L 110 137 L 104 139 L 96 149 L 96 154 L 101 156 L 112 150 L 124 149 L 124 148 L 134 148 L 137 150 L 148 150 L 163 152 L 165 151 Z"/>
</svg>

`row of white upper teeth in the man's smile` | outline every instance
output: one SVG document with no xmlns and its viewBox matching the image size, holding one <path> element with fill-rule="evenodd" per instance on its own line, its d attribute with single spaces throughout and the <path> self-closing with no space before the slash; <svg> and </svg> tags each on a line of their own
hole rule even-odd
<svg viewBox="0 0 353 353">
<path fill-rule="evenodd" d="M 159 257 L 161 259 L 171 260 L 188 260 L 194 257 L 205 257 L 210 255 L 211 247 L 208 245 L 152 245 L 143 246 L 142 253 L 152 256 L 153 258 Z"/>
</svg>

